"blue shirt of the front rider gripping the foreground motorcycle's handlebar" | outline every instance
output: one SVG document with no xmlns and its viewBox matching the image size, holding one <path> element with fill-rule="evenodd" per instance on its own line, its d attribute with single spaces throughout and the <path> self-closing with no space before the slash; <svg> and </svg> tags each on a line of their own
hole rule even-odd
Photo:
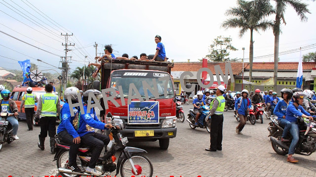
<svg viewBox="0 0 316 177">
<path fill-rule="evenodd" d="M 79 128 L 77 130 L 80 137 L 87 133 L 93 133 L 94 128 L 104 130 L 105 123 L 101 122 L 93 108 L 91 108 L 90 113 L 87 113 L 87 105 L 83 105 L 84 115 L 80 115 Z"/>
</svg>

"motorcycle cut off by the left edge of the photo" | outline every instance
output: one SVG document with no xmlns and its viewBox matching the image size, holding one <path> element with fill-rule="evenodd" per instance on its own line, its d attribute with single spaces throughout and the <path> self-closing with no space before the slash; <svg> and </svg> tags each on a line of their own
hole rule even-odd
<svg viewBox="0 0 316 177">
<path fill-rule="evenodd" d="M 17 110 L 13 110 L 13 112 L 17 112 Z M 6 120 L 6 118 L 14 116 L 13 113 L 9 113 L 7 111 L 2 111 L 0 113 L 0 150 L 2 148 L 2 145 L 6 142 L 8 144 L 12 143 L 15 139 L 12 138 L 12 131 L 13 127 L 9 123 L 9 121 Z"/>
</svg>

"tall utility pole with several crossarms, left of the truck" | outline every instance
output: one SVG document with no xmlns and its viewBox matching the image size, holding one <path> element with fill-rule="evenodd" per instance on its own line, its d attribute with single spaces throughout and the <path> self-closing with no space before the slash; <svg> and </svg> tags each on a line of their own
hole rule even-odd
<svg viewBox="0 0 316 177">
<path fill-rule="evenodd" d="M 67 57 L 67 52 L 71 51 L 67 47 L 68 46 L 75 46 L 75 44 L 71 44 L 71 43 L 68 44 L 68 36 L 72 36 L 73 33 L 72 34 L 68 34 L 68 33 L 63 34 L 63 33 L 61 33 L 61 35 L 65 36 L 65 44 L 62 43 L 62 45 L 65 46 L 65 57 L 61 57 L 61 61 L 60 62 L 62 62 L 62 67 L 59 68 L 59 69 L 62 70 L 62 77 L 63 77 L 62 83 L 64 84 L 64 89 L 66 89 L 67 88 L 68 69 L 69 69 L 68 60 L 67 59 L 70 58 L 70 57 Z M 62 90 L 60 90 L 60 91 L 62 91 Z"/>
</svg>

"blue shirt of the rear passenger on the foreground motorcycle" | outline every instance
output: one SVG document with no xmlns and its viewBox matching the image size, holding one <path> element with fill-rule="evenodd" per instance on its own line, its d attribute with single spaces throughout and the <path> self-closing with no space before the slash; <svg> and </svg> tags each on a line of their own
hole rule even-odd
<svg viewBox="0 0 316 177">
<path fill-rule="evenodd" d="M 65 103 L 60 110 L 60 123 L 57 128 L 57 133 L 67 130 L 68 134 L 74 138 L 79 137 L 77 133 L 79 125 L 80 107 L 73 108 L 75 116 L 72 117 L 69 110 L 69 104 Z"/>
</svg>

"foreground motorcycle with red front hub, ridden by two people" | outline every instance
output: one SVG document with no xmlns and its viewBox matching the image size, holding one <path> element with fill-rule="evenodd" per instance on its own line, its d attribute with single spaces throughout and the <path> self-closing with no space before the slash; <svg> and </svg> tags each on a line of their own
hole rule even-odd
<svg viewBox="0 0 316 177">
<path fill-rule="evenodd" d="M 107 115 L 107 118 L 111 118 L 112 122 L 114 121 L 111 113 Z M 153 164 L 147 156 L 142 154 L 147 153 L 147 151 L 141 148 L 127 147 L 127 137 L 123 137 L 121 133 L 119 133 L 119 129 L 122 129 L 122 127 L 123 125 L 121 123 L 114 124 L 114 127 L 111 129 L 111 133 L 109 135 L 111 141 L 106 148 L 107 151 L 104 156 L 100 156 L 97 160 L 95 166 L 96 170 L 102 172 L 101 177 L 107 177 L 115 170 L 117 170 L 115 176 L 120 173 L 121 177 L 139 175 L 152 177 Z M 63 177 L 91 176 L 91 174 L 88 173 L 73 172 L 68 164 L 70 145 L 62 143 L 59 140 L 58 135 L 55 136 L 55 140 L 57 142 L 57 152 L 54 161 L 57 160 L 58 172 Z M 116 164 L 115 154 L 117 151 L 120 151 L 120 155 L 118 158 L 118 163 Z M 78 167 L 87 167 L 90 159 L 90 148 L 79 148 L 77 156 Z"/>
</svg>

